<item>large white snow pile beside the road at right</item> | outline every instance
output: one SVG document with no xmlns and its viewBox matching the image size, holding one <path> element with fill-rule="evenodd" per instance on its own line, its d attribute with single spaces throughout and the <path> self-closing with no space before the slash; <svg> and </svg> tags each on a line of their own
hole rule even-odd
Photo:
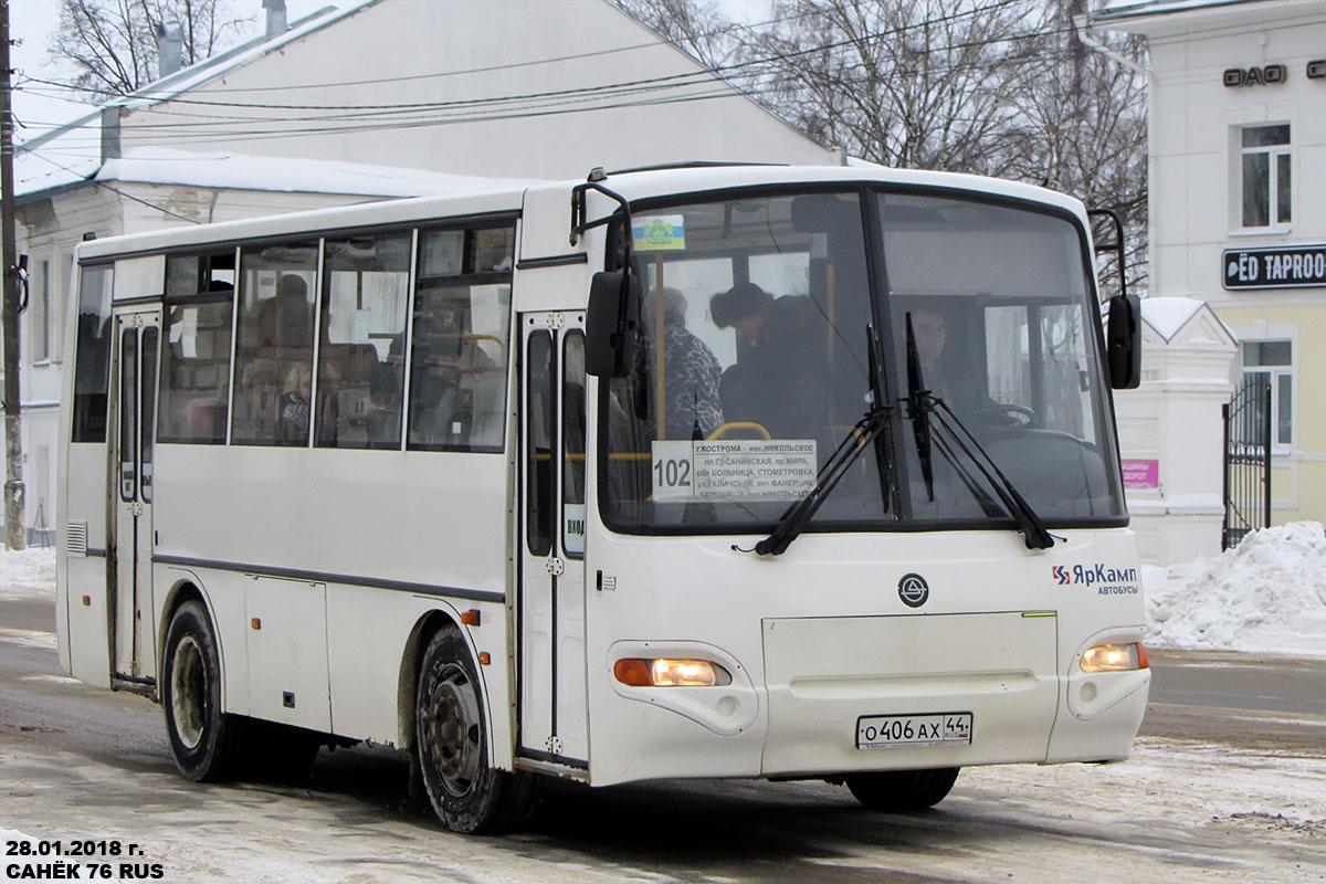
<svg viewBox="0 0 1326 884">
<path fill-rule="evenodd" d="M 1144 567 L 1147 632 L 1174 648 L 1326 656 L 1326 531 L 1253 531 L 1213 559 Z"/>
</svg>

